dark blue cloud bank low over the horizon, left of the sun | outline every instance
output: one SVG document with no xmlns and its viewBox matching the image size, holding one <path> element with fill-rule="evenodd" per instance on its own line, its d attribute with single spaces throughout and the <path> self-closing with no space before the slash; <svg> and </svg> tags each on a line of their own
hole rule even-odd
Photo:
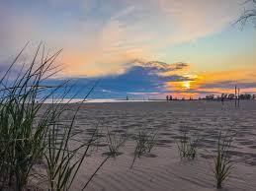
<svg viewBox="0 0 256 191">
<path fill-rule="evenodd" d="M 128 63 L 126 65 L 128 65 Z M 182 65 L 185 66 L 186 64 L 183 63 Z M 124 98 L 127 95 L 161 95 L 170 92 L 166 89 L 166 82 L 182 82 L 190 80 L 188 77 L 179 75 L 160 75 L 163 71 L 169 70 L 176 70 L 176 64 L 167 64 L 158 61 L 140 61 L 139 63 L 131 62 L 129 63 L 128 69 L 123 74 L 105 76 L 101 78 L 88 77 L 74 79 L 75 90 L 79 92 L 79 95 L 77 96 L 82 97 L 88 92 L 88 88 L 92 87 L 95 82 L 98 82 L 98 85 L 91 97 Z M 52 79 L 46 83 L 57 84 L 61 83 L 61 81 L 62 80 Z"/>
</svg>

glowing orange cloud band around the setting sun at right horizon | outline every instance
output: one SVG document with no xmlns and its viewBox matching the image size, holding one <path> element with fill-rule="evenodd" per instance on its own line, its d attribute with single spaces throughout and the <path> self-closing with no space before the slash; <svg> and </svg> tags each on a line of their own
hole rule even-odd
<svg viewBox="0 0 256 191">
<path fill-rule="evenodd" d="M 183 75 L 190 78 L 188 81 L 167 82 L 166 89 L 178 92 L 176 96 L 200 96 L 202 94 L 233 94 L 234 85 L 255 84 L 255 67 L 248 69 L 235 69 L 229 71 L 205 72 L 197 75 Z M 176 71 L 179 73 L 179 71 Z M 252 85 L 254 86 L 254 85 Z M 256 87 L 239 87 L 241 93 L 256 93 Z"/>
</svg>

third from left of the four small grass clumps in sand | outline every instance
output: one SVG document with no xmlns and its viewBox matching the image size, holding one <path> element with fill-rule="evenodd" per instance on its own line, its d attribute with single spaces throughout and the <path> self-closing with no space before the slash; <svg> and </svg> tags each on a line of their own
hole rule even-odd
<svg viewBox="0 0 256 191">
<path fill-rule="evenodd" d="M 181 129 L 182 136 L 177 143 L 178 152 L 181 159 L 195 159 L 197 156 L 197 142 L 198 139 L 193 140 L 187 129 Z"/>
</svg>

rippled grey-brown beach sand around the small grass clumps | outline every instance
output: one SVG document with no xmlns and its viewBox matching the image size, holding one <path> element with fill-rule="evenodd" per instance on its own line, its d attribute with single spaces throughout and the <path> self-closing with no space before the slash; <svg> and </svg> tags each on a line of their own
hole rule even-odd
<svg viewBox="0 0 256 191">
<path fill-rule="evenodd" d="M 75 105 L 75 104 L 74 104 Z M 72 104 L 70 104 L 70 107 Z M 235 165 L 222 190 L 256 190 L 256 101 L 224 105 L 217 101 L 157 101 L 85 103 L 77 116 L 74 131 L 82 130 L 80 141 L 88 139 L 97 121 L 100 128 L 118 133 L 128 132 L 122 155 L 109 159 L 97 172 L 86 190 L 216 190 L 213 177 L 213 155 L 220 129 L 237 134 L 230 148 Z M 149 155 L 136 159 L 132 169 L 134 134 L 139 128 L 157 129 L 157 142 Z M 176 142 L 180 128 L 198 136 L 195 160 L 180 159 Z M 104 141 L 82 164 L 71 190 L 81 190 L 108 151 Z"/>
</svg>

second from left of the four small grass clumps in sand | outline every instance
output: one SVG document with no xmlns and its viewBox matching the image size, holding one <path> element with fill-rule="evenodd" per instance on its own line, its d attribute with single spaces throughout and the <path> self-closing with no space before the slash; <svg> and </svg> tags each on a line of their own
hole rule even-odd
<svg viewBox="0 0 256 191">
<path fill-rule="evenodd" d="M 156 144 L 157 131 L 140 129 L 136 136 L 136 147 L 134 157 L 130 168 L 132 168 L 135 159 L 140 158 L 143 154 L 149 154 Z"/>
</svg>

